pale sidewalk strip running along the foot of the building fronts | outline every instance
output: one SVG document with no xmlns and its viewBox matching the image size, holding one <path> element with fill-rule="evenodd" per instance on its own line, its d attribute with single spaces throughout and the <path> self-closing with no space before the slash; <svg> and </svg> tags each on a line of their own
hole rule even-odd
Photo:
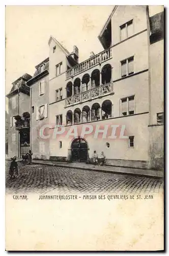
<svg viewBox="0 0 169 256">
<path fill-rule="evenodd" d="M 86 169 L 93 170 L 96 172 L 104 172 L 104 173 L 114 173 L 114 174 L 127 174 L 134 176 L 146 176 L 146 177 L 157 177 L 163 178 L 163 170 L 151 170 L 151 169 L 138 169 L 138 168 L 128 168 L 128 167 L 117 167 L 117 166 L 98 166 L 93 164 L 86 163 L 78 163 L 78 162 L 56 162 L 49 160 L 35 160 L 33 159 L 33 163 L 36 164 L 45 164 L 50 166 L 59 166 L 59 167 L 69 167 L 75 169 Z"/>
</svg>

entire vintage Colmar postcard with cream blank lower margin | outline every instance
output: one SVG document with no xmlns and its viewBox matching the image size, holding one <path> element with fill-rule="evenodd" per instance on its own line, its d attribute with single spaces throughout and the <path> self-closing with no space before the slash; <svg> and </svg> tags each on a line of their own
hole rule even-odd
<svg viewBox="0 0 169 256">
<path fill-rule="evenodd" d="M 6 6 L 6 250 L 164 250 L 164 7 Z"/>
</svg>

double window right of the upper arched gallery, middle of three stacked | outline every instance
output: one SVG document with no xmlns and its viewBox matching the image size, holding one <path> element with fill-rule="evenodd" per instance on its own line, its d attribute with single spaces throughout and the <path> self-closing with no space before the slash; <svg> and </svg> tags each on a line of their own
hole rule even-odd
<svg viewBox="0 0 169 256">
<path fill-rule="evenodd" d="M 134 73 L 134 57 L 129 57 L 121 61 L 121 77 Z"/>
</svg>

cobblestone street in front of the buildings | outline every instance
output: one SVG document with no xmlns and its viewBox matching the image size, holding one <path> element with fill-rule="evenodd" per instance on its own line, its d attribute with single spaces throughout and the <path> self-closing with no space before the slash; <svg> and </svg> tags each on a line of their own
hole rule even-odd
<svg viewBox="0 0 169 256">
<path fill-rule="evenodd" d="M 6 189 L 11 193 L 158 193 L 162 179 L 131 175 L 92 172 L 40 164 L 22 165 L 18 162 L 18 178 L 9 179 L 10 161 L 6 163 Z M 113 168 L 113 167 L 112 167 Z"/>
</svg>

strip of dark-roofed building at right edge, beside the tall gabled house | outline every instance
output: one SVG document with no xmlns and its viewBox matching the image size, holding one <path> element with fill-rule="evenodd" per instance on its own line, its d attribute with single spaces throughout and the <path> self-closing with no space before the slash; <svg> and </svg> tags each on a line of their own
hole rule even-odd
<svg viewBox="0 0 169 256">
<path fill-rule="evenodd" d="M 150 17 L 149 157 L 150 166 L 164 161 L 164 12 Z"/>
</svg>

